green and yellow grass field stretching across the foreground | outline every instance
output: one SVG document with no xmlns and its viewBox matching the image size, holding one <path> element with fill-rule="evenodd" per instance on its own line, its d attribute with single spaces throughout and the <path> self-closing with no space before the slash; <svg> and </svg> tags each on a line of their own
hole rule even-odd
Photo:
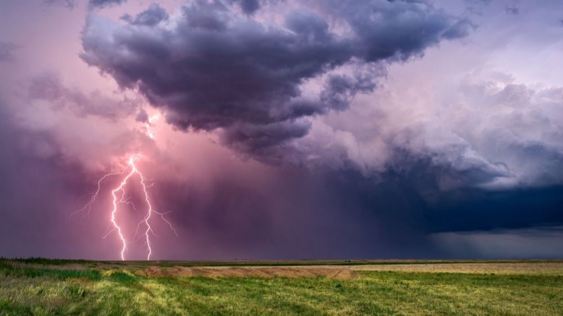
<svg viewBox="0 0 563 316">
<path fill-rule="evenodd" d="M 361 277 L 136 274 L 148 265 L 301 264 L 346 267 Z M 0 315 L 52 314 L 563 315 L 563 261 L 0 260 Z"/>
</svg>

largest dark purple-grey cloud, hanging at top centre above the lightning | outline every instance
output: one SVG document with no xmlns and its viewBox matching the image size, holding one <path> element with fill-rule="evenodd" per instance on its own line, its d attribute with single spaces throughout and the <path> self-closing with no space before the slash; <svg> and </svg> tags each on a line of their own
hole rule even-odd
<svg viewBox="0 0 563 316">
<path fill-rule="evenodd" d="M 240 4 L 244 9 L 248 3 L 256 4 Z M 344 22 L 351 33 L 337 34 L 327 17 L 307 6 L 323 6 L 319 12 Z M 471 27 L 410 1 L 304 1 L 283 25 L 239 16 L 220 1 L 194 1 L 180 13 L 166 25 L 166 13 L 157 6 L 129 17 L 126 25 L 90 16 L 81 57 L 120 87 L 138 88 L 166 110 L 175 127 L 221 128 L 227 145 L 261 152 L 260 146 L 305 136 L 299 119 L 347 109 L 357 93 L 372 91 L 382 74 L 381 69 L 363 75 L 333 70 L 408 60 L 443 39 L 463 37 Z M 323 88 L 315 92 L 305 87 L 308 82 Z"/>
</svg>

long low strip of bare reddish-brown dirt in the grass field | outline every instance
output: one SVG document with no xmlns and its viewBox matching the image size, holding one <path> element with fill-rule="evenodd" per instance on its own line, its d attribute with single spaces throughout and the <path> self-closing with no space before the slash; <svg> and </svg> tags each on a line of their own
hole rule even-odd
<svg viewBox="0 0 563 316">
<path fill-rule="evenodd" d="M 348 268 L 318 267 L 148 267 L 135 272 L 144 277 L 207 277 L 207 278 L 246 278 L 246 277 L 327 277 L 338 280 L 357 279 L 358 274 Z"/>
</svg>

